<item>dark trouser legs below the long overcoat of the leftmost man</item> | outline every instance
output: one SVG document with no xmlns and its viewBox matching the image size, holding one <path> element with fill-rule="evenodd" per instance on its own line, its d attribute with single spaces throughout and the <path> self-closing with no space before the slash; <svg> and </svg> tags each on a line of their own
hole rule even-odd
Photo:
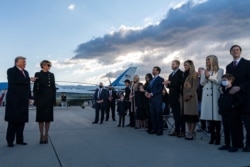
<svg viewBox="0 0 250 167">
<path fill-rule="evenodd" d="M 11 123 L 8 122 L 6 140 L 8 144 L 13 144 L 15 137 L 16 143 L 23 142 L 23 130 L 24 130 L 25 122 L 22 123 Z"/>
</svg>

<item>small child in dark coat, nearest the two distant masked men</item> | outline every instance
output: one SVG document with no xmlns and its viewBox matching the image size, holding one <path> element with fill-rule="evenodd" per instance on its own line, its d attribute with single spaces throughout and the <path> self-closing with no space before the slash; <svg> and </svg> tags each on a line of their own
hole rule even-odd
<svg viewBox="0 0 250 167">
<path fill-rule="evenodd" d="M 124 127 L 125 123 L 125 115 L 127 114 L 126 110 L 126 102 L 124 101 L 124 95 L 123 93 L 120 95 L 120 99 L 117 102 L 117 112 L 119 115 L 119 124 L 117 127 Z"/>
</svg>

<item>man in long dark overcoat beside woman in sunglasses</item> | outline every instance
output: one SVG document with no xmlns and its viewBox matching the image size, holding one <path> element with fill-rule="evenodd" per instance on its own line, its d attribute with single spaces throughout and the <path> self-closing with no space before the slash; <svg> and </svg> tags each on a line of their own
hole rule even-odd
<svg viewBox="0 0 250 167">
<path fill-rule="evenodd" d="M 8 122 L 6 140 L 8 147 L 16 144 L 27 145 L 24 142 L 23 130 L 29 120 L 29 99 L 31 99 L 30 78 L 26 66 L 26 58 L 18 56 L 15 66 L 7 70 L 8 91 L 6 95 L 5 121 Z"/>
</svg>

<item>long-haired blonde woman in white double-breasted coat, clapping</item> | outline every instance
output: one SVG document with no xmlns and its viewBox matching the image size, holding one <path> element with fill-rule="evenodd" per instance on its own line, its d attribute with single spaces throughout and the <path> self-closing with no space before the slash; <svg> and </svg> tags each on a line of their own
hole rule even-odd
<svg viewBox="0 0 250 167">
<path fill-rule="evenodd" d="M 218 99 L 223 69 L 219 68 L 218 59 L 214 55 L 207 56 L 206 70 L 201 75 L 203 86 L 201 101 L 201 120 L 210 123 L 211 139 L 209 144 L 220 144 L 221 115 L 219 115 Z"/>
</svg>

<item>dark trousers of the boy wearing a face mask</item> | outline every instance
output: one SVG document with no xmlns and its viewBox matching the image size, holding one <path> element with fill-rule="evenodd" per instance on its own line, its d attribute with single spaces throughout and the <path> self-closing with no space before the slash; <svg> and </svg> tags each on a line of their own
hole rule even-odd
<svg viewBox="0 0 250 167">
<path fill-rule="evenodd" d="M 222 115 L 222 123 L 224 127 L 225 145 L 232 146 L 235 148 L 241 148 L 243 146 L 241 116 L 239 114 Z"/>
</svg>

